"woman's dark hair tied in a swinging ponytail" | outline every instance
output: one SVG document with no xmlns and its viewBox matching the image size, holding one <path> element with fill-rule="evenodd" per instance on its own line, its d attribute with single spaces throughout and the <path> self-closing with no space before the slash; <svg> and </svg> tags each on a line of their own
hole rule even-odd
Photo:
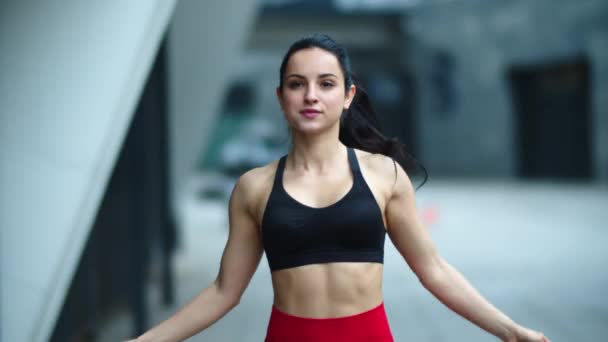
<svg viewBox="0 0 608 342">
<path fill-rule="evenodd" d="M 401 165 L 410 177 L 421 174 L 422 182 L 417 188 L 424 185 L 428 179 L 426 169 L 407 151 L 405 145 L 399 140 L 387 138 L 382 134 L 380 122 L 372 107 L 369 96 L 351 70 L 350 59 L 346 49 L 329 36 L 325 34 L 313 34 L 297 40 L 289 47 L 281 62 L 279 87 L 283 89 L 283 77 L 285 76 L 285 69 L 291 56 L 299 50 L 313 47 L 323 49 L 336 56 L 344 74 L 346 91 L 353 84 L 357 87 L 353 102 L 349 109 L 342 113 L 340 119 L 340 141 L 349 147 L 391 157 Z"/>
</svg>

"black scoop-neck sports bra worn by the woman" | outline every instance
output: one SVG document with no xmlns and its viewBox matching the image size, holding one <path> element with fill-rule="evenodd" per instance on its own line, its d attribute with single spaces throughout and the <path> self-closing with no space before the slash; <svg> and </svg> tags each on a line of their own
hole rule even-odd
<svg viewBox="0 0 608 342">
<path fill-rule="evenodd" d="M 306 206 L 283 188 L 285 159 L 279 160 L 262 219 L 262 242 L 271 271 L 330 262 L 384 261 L 382 213 L 348 148 L 353 186 L 324 208 Z"/>
</svg>

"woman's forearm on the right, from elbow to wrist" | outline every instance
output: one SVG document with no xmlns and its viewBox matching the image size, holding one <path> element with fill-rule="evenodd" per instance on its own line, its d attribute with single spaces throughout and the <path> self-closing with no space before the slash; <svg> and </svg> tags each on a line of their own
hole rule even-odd
<svg viewBox="0 0 608 342">
<path fill-rule="evenodd" d="M 454 267 L 441 259 L 420 277 L 424 287 L 447 307 L 503 341 L 515 335 L 517 324 L 488 302 Z"/>
</svg>

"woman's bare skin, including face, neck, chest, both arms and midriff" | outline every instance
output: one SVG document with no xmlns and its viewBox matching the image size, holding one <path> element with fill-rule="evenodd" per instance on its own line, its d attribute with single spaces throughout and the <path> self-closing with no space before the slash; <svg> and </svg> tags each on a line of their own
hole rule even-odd
<svg viewBox="0 0 608 342">
<path fill-rule="evenodd" d="M 322 208 L 339 201 L 353 184 L 347 150 L 338 139 L 339 119 L 356 93 L 345 89 L 338 60 L 318 48 L 292 55 L 277 98 L 288 122 L 293 148 L 283 186 L 295 200 Z M 320 111 L 315 118 L 303 109 Z M 418 219 L 407 174 L 383 155 L 355 150 L 361 172 L 382 211 L 387 233 L 422 285 L 450 309 L 503 341 L 549 341 L 513 322 L 486 301 L 437 252 Z M 261 222 L 277 161 L 240 177 L 229 202 L 229 236 L 216 280 L 168 320 L 137 341 L 181 341 L 207 328 L 236 306 L 263 254 Z M 314 192 L 310 189 L 315 189 Z M 271 273 L 274 305 L 302 317 L 357 314 L 382 302 L 383 265 L 327 263 Z"/>
</svg>

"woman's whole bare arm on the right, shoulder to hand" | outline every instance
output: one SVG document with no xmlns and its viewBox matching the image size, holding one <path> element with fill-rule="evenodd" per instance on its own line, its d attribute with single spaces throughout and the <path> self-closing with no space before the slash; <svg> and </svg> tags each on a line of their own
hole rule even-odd
<svg viewBox="0 0 608 342">
<path fill-rule="evenodd" d="M 503 341 L 549 341 L 542 333 L 513 322 L 438 254 L 418 219 L 412 183 L 399 166 L 385 214 L 391 241 L 422 285 L 439 301 Z"/>
</svg>

